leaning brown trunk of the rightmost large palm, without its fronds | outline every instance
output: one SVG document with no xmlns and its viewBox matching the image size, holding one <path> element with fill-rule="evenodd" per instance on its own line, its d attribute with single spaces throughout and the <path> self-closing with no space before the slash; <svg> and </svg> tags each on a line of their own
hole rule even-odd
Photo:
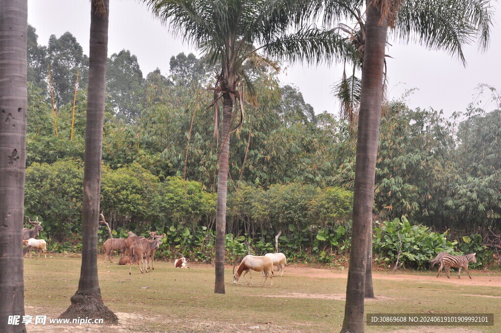
<svg viewBox="0 0 501 333">
<path fill-rule="evenodd" d="M 362 95 L 358 123 L 357 160 L 353 194 L 353 233 L 341 332 L 364 331 L 364 295 L 368 237 L 374 202 L 374 177 L 381 121 L 383 65 L 388 23 L 373 2 L 367 2 L 367 25 Z"/>
</svg>

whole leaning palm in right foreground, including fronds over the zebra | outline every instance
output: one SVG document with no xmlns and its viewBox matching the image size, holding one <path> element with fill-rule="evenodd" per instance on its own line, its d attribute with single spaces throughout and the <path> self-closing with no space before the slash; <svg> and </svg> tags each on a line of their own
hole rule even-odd
<svg viewBox="0 0 501 333">
<path fill-rule="evenodd" d="M 414 8 L 421 10 L 409 10 Z M 346 305 L 341 332 L 364 331 L 368 237 L 381 120 L 383 67 L 388 28 L 409 40 L 412 33 L 429 48 L 445 49 L 465 63 L 462 46 L 477 38 L 486 48 L 491 25 L 484 0 L 368 0 L 353 199 L 353 233 Z M 405 23 L 405 24 L 404 24 Z M 451 27 L 457 30 L 450 29 Z M 368 263 L 367 263 L 368 264 Z"/>
</svg>

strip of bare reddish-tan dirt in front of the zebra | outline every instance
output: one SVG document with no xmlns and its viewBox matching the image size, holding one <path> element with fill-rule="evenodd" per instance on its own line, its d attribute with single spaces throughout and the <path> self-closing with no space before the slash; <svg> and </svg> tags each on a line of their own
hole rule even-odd
<svg viewBox="0 0 501 333">
<path fill-rule="evenodd" d="M 306 276 L 306 277 L 319 277 L 319 278 L 339 278 L 346 279 L 348 277 L 348 271 L 340 272 L 334 269 L 327 268 L 312 268 L 312 267 L 300 267 L 300 266 L 288 266 L 284 274 L 290 274 L 294 276 Z M 463 285 L 482 285 L 482 286 L 495 286 L 501 287 L 501 275 L 493 275 L 491 272 L 485 271 L 473 271 L 470 270 L 471 279 L 468 275 L 461 272 L 461 278 L 457 278 L 457 272 L 451 272 L 450 279 L 445 276 L 436 277 L 436 271 L 430 271 L 429 275 L 413 275 L 406 273 L 378 273 L 373 272 L 372 277 L 376 280 L 393 280 L 393 281 L 405 281 L 405 280 L 415 280 L 419 282 L 441 282 L 441 283 L 453 283 L 453 284 L 463 284 Z"/>
</svg>

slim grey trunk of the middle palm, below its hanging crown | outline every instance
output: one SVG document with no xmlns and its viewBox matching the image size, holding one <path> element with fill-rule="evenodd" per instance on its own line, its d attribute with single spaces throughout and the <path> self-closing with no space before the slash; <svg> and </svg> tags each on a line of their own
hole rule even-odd
<svg viewBox="0 0 501 333">
<path fill-rule="evenodd" d="M 231 126 L 231 112 L 233 101 L 228 93 L 223 95 L 221 153 L 219 154 L 219 172 L 217 175 L 217 203 L 216 203 L 216 243 L 215 243 L 215 270 L 216 280 L 214 293 L 224 294 L 224 258 L 226 236 L 226 193 L 228 190 L 228 157 L 229 157 L 229 130 Z"/>
</svg>

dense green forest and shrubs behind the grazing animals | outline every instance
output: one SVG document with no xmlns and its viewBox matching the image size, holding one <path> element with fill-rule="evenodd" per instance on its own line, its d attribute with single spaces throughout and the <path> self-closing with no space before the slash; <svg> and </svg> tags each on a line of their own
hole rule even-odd
<svg viewBox="0 0 501 333">
<path fill-rule="evenodd" d="M 210 262 L 214 253 L 217 142 L 211 96 L 214 69 L 180 53 L 169 75 L 140 70 L 123 50 L 108 59 L 101 209 L 114 229 L 166 233 L 161 257 L 182 252 Z M 39 44 L 28 35 L 26 214 L 59 252 L 81 247 L 81 205 L 88 57 L 71 33 Z M 78 75 L 78 85 L 75 88 Z M 258 69 L 259 92 L 230 150 L 228 260 L 280 250 L 292 261 L 344 267 L 351 235 L 356 126 L 317 114 L 276 71 Z M 501 233 L 501 96 L 480 85 L 462 113 L 410 109 L 386 101 L 374 204 L 374 259 L 428 267 L 440 251 L 493 261 Z M 192 123 L 193 121 L 193 123 Z M 188 144 L 189 142 L 189 144 Z M 186 181 L 184 181 L 184 179 Z M 100 242 L 108 232 L 103 225 Z M 495 238 L 495 237 L 494 237 Z"/>
</svg>

